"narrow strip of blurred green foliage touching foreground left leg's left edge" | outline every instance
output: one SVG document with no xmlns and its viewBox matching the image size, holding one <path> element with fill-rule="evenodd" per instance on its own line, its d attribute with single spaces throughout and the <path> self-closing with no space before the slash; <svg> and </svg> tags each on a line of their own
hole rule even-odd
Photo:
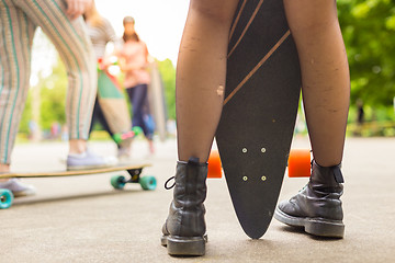
<svg viewBox="0 0 395 263">
<path fill-rule="evenodd" d="M 170 59 L 157 64 L 165 85 L 168 117 L 176 119 L 176 69 Z"/>
</svg>

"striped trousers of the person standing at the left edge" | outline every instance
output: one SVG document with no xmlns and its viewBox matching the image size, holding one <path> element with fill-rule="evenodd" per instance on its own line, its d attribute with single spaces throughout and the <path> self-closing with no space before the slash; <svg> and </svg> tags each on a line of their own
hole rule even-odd
<svg viewBox="0 0 395 263">
<path fill-rule="evenodd" d="M 26 101 L 34 32 L 56 47 L 68 77 L 70 139 L 88 139 L 97 93 L 95 58 L 82 18 L 70 21 L 64 0 L 0 0 L 0 163 L 10 155 Z"/>
</svg>

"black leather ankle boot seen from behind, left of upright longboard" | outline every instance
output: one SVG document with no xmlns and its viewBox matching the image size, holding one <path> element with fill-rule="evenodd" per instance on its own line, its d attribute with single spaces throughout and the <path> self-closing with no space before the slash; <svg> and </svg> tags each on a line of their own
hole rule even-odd
<svg viewBox="0 0 395 263">
<path fill-rule="evenodd" d="M 171 255 L 204 255 L 207 163 L 178 162 L 174 176 L 173 201 L 162 227 L 161 244 Z M 174 186 L 173 185 L 173 186 Z M 171 186 L 172 187 L 172 186 Z M 167 187 L 168 188 L 168 187 Z"/>
</svg>

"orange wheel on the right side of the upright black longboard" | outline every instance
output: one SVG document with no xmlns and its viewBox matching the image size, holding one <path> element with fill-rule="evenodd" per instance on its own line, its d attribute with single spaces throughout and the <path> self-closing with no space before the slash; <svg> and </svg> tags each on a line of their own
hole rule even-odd
<svg viewBox="0 0 395 263">
<path fill-rule="evenodd" d="M 292 149 L 289 158 L 289 178 L 308 178 L 311 169 L 311 151 L 308 149 Z"/>
</svg>

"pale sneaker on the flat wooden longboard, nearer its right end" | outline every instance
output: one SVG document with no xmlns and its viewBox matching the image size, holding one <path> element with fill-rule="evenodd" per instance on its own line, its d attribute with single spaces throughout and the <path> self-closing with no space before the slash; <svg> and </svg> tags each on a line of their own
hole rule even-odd
<svg viewBox="0 0 395 263">
<path fill-rule="evenodd" d="M 101 157 L 90 151 L 67 156 L 67 170 L 69 171 L 106 168 L 116 164 L 117 159 L 115 157 Z"/>
</svg>

